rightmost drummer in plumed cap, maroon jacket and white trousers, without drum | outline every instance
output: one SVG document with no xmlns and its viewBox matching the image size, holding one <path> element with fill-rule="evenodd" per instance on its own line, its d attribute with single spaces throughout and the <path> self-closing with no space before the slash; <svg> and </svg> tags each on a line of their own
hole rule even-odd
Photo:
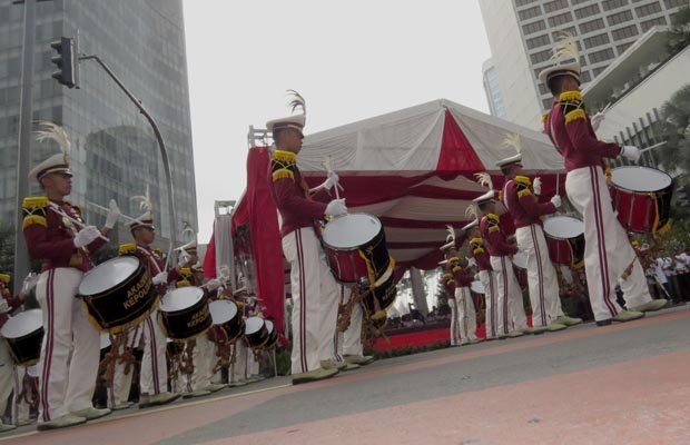
<svg viewBox="0 0 690 445">
<path fill-rule="evenodd" d="M 599 326 L 638 319 L 668 300 L 652 300 L 649 294 L 642 266 L 613 212 L 602 166 L 604 158 L 619 155 L 637 161 L 640 149 L 597 139 L 580 92 L 580 55 L 572 36 L 559 41 L 553 59 L 554 65 L 539 75 L 554 97 L 544 130 L 565 159 L 565 191 L 584 218 L 584 269 L 592 312 Z M 615 300 L 618 284 L 628 310 Z"/>
</svg>

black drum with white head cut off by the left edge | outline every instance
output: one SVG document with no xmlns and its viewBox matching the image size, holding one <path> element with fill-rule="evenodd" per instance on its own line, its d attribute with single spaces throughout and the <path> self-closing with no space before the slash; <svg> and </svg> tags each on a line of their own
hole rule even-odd
<svg viewBox="0 0 690 445">
<path fill-rule="evenodd" d="M 43 315 L 41 309 L 19 313 L 0 329 L 14 363 L 19 366 L 36 365 L 41 357 Z"/>
</svg>

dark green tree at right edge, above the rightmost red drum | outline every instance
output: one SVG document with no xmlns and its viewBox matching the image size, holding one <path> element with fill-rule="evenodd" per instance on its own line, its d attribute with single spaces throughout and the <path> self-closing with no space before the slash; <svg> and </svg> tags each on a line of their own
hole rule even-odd
<svg viewBox="0 0 690 445">
<path fill-rule="evenodd" d="M 690 171 L 690 83 L 676 91 L 661 107 L 659 164 L 670 172 Z"/>
</svg>

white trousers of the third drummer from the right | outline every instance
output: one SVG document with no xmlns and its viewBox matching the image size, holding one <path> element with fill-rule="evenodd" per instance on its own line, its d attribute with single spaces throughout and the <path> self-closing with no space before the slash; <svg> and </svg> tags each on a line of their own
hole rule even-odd
<svg viewBox="0 0 690 445">
<path fill-rule="evenodd" d="M 522 303 L 522 290 L 513 270 L 510 257 L 490 257 L 496 279 L 496 312 L 499 334 L 521 330 L 528 327 L 528 318 Z"/>
</svg>

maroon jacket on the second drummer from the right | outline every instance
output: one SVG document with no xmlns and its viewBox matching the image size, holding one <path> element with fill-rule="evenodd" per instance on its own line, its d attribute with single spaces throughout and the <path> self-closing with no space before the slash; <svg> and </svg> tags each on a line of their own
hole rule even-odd
<svg viewBox="0 0 690 445">
<path fill-rule="evenodd" d="M 532 224 L 542 224 L 543 215 L 555 214 L 555 206 L 551 202 L 539 202 L 532 195 L 530 178 L 516 176 L 509 179 L 503 187 L 503 199 L 507 204 L 507 210 L 513 217 L 516 228 L 528 227 Z"/>
</svg>

